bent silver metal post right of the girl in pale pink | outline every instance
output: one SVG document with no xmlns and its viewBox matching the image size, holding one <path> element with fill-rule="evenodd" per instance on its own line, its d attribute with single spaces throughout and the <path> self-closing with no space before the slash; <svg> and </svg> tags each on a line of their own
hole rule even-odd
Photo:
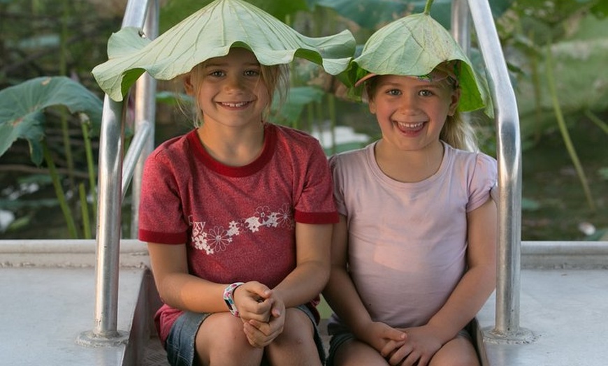
<svg viewBox="0 0 608 366">
<path fill-rule="evenodd" d="M 498 159 L 496 324 L 491 337 L 517 341 L 521 270 L 521 144 L 517 103 L 488 0 L 468 0 L 494 102 Z"/>
</svg>

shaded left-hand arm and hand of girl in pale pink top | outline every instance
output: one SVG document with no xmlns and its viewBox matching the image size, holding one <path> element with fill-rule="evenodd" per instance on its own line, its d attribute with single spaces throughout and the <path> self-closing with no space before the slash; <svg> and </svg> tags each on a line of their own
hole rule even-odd
<svg viewBox="0 0 608 366">
<path fill-rule="evenodd" d="M 403 341 L 405 334 L 396 329 L 375 324 L 367 309 L 363 306 L 359 293 L 347 272 L 348 262 L 348 229 L 346 217 L 340 215 L 340 221 L 335 224 L 331 242 L 331 273 L 327 286 L 323 291 L 324 298 L 335 314 L 347 325 L 355 337 L 370 344 L 378 351 L 386 342 Z M 377 330 L 378 334 L 372 334 Z"/>
</svg>

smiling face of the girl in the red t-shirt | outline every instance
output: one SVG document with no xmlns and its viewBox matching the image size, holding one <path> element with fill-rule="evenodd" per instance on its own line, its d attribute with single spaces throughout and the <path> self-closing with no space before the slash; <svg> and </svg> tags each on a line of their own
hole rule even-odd
<svg viewBox="0 0 608 366">
<path fill-rule="evenodd" d="M 260 124 L 271 101 L 262 67 L 245 48 L 232 48 L 228 55 L 196 66 L 184 86 L 195 98 L 205 124 Z"/>
</svg>

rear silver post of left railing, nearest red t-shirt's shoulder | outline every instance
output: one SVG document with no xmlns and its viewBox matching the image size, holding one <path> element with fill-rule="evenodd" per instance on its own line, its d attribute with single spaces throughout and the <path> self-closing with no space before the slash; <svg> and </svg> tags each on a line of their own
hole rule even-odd
<svg viewBox="0 0 608 366">
<path fill-rule="evenodd" d="M 159 2 L 150 1 L 143 31 L 151 40 L 157 38 L 159 32 Z M 143 164 L 145 158 L 154 149 L 154 120 L 156 118 L 156 89 L 157 81 L 148 73 L 140 76 L 136 83 L 135 93 L 135 131 L 141 128 L 145 121 L 150 122 L 150 135 L 140 154 L 131 182 L 131 237 L 137 237 L 139 228 L 139 200 Z"/>
</svg>

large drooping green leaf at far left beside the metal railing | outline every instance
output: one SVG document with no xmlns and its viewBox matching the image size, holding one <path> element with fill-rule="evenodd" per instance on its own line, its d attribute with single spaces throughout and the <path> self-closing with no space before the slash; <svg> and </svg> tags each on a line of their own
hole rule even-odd
<svg viewBox="0 0 608 366">
<path fill-rule="evenodd" d="M 65 105 L 71 113 L 84 112 L 101 122 L 101 100 L 78 82 L 64 76 L 27 80 L 0 90 L 0 156 L 17 138 L 29 142 L 31 161 L 42 162 L 44 109 Z"/>
</svg>

